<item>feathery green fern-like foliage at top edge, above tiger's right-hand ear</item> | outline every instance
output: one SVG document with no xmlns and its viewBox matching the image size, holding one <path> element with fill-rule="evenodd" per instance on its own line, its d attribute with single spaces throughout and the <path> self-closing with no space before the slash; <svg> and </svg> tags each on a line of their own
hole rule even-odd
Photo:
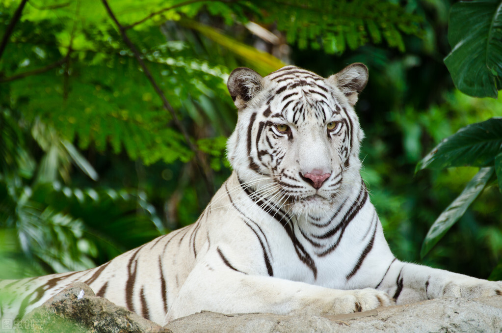
<svg viewBox="0 0 502 333">
<path fill-rule="evenodd" d="M 419 34 L 421 18 L 388 1 L 309 1 L 267 2 L 265 22 L 277 22 L 287 32 L 289 43 L 300 49 L 322 48 L 328 54 L 341 54 L 385 40 L 404 52 L 402 33 Z"/>
</svg>

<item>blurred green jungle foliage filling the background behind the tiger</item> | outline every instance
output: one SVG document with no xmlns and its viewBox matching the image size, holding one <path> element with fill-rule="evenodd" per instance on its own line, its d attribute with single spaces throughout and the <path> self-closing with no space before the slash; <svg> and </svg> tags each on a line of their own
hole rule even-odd
<svg viewBox="0 0 502 333">
<path fill-rule="evenodd" d="M 414 174 L 417 162 L 461 127 L 502 115 L 497 99 L 452 83 L 443 62 L 451 5 L 0 0 L 0 278 L 93 267 L 193 223 L 212 195 L 205 181 L 217 189 L 230 174 L 233 68 L 266 75 L 295 64 L 328 76 L 356 61 L 370 72 L 356 107 L 362 175 L 393 252 L 487 278 L 502 257 L 496 184 L 420 257 L 477 168 Z"/>
</svg>

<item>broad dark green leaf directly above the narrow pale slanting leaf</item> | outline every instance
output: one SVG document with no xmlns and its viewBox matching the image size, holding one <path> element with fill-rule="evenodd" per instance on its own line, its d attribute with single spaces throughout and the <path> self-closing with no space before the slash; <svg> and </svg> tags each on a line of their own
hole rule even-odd
<svg viewBox="0 0 502 333">
<path fill-rule="evenodd" d="M 416 171 L 425 168 L 493 165 L 495 155 L 500 152 L 502 118 L 491 118 L 467 125 L 444 139 L 417 164 Z"/>
</svg>

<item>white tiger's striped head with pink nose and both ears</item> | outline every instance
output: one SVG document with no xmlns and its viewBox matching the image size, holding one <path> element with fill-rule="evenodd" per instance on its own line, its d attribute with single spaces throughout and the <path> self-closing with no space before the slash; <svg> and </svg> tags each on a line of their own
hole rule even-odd
<svg viewBox="0 0 502 333">
<path fill-rule="evenodd" d="M 295 66 L 265 77 L 233 70 L 227 87 L 238 120 L 227 155 L 241 183 L 293 213 L 311 215 L 360 186 L 364 135 L 353 107 L 367 80 L 361 63 L 328 78 Z"/>
</svg>

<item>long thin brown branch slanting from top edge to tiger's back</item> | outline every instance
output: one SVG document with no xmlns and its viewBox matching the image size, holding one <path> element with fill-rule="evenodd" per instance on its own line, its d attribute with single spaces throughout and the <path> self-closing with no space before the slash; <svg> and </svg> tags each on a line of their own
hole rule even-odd
<svg viewBox="0 0 502 333">
<path fill-rule="evenodd" d="M 157 94 L 159 95 L 159 97 L 162 99 L 162 103 L 164 105 L 164 108 L 166 110 L 168 110 L 169 113 L 171 114 L 171 116 L 173 118 L 174 125 L 178 128 L 178 130 L 183 135 L 183 138 L 185 139 L 185 141 L 186 141 L 188 147 L 190 148 L 190 150 L 194 152 L 194 154 L 195 154 L 195 160 L 197 161 L 197 165 L 198 165 L 200 171 L 202 172 L 202 177 L 204 178 L 204 182 L 206 183 L 207 191 L 208 191 L 208 193 L 210 195 L 212 195 L 213 194 L 213 185 L 212 185 L 212 183 L 210 181 L 209 172 L 207 171 L 207 166 L 206 166 L 206 164 L 203 162 L 203 160 L 199 156 L 199 150 L 190 141 L 190 136 L 188 135 L 188 132 L 186 131 L 186 129 L 183 127 L 183 125 L 181 124 L 180 120 L 176 116 L 174 108 L 169 103 L 169 101 L 167 100 L 166 96 L 164 95 L 164 92 L 161 90 L 161 88 L 159 87 L 159 85 L 155 81 L 154 77 L 152 76 L 152 73 L 148 69 L 148 67 L 145 64 L 145 62 L 143 61 L 143 59 L 142 59 L 142 57 L 140 55 L 140 52 L 138 51 L 138 49 L 136 48 L 136 46 L 134 45 L 134 43 L 127 36 L 127 34 L 126 34 L 126 28 L 123 27 L 122 25 L 120 25 L 120 23 L 118 22 L 117 18 L 115 17 L 115 15 L 111 11 L 110 7 L 108 6 L 108 2 L 106 0 L 101 0 L 101 2 L 103 3 L 103 6 L 105 7 L 106 11 L 108 12 L 108 15 L 110 16 L 110 18 L 113 20 L 113 22 L 117 26 L 117 28 L 118 28 L 118 30 L 120 32 L 120 35 L 122 36 L 123 41 L 127 44 L 127 46 L 129 46 L 129 48 L 131 49 L 131 51 L 133 51 L 134 56 L 136 57 L 136 60 L 138 60 L 138 62 L 140 63 L 141 68 L 143 69 L 143 72 L 147 76 L 148 80 L 152 84 L 153 88 L 155 89 L 155 91 L 157 92 Z"/>
</svg>

